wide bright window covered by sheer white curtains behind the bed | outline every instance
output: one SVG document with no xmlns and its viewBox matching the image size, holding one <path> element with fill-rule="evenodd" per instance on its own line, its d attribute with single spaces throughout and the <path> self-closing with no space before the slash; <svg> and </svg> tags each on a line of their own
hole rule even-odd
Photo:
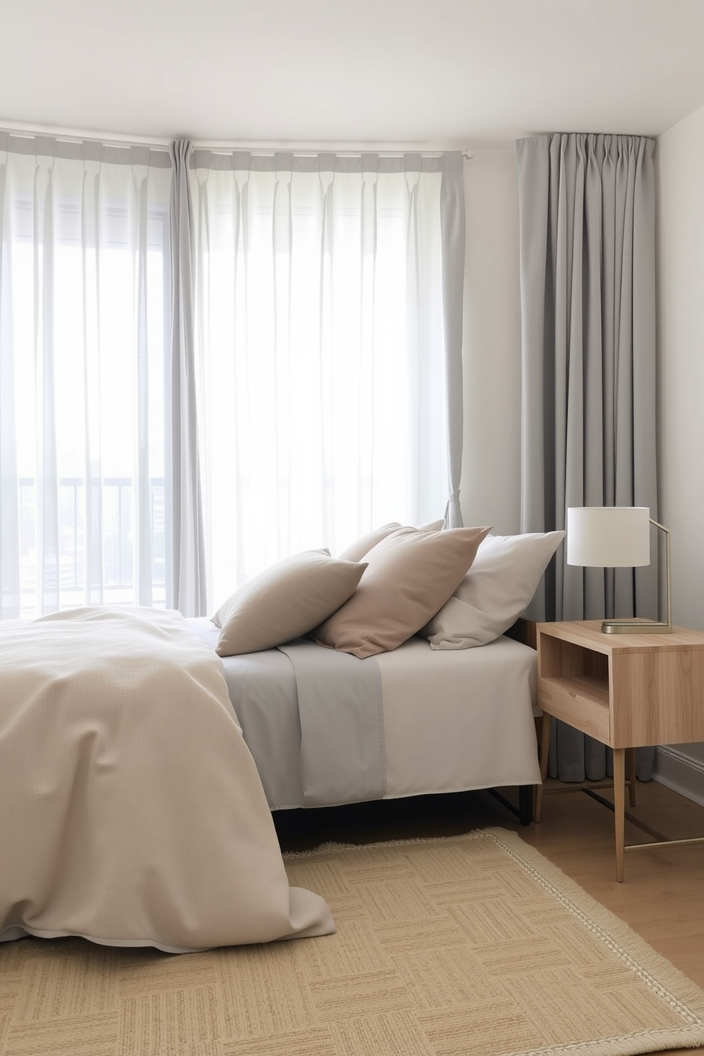
<svg viewBox="0 0 704 1056">
<path fill-rule="evenodd" d="M 204 615 L 288 554 L 441 517 L 462 195 L 459 154 L 0 133 L 1 617 Z"/>
</svg>

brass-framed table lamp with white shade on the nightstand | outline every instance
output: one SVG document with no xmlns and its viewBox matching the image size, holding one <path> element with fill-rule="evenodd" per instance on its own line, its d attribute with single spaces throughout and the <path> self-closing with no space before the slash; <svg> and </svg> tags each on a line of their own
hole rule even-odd
<svg viewBox="0 0 704 1056">
<path fill-rule="evenodd" d="M 665 532 L 667 621 L 605 620 L 606 635 L 671 634 L 670 533 L 653 521 L 647 506 L 571 506 L 567 511 L 567 563 L 594 568 L 635 568 L 650 564 L 650 525 Z"/>
</svg>

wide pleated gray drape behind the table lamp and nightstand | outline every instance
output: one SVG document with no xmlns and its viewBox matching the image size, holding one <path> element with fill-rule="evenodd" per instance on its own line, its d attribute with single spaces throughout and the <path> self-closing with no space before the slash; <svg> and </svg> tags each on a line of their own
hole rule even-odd
<svg viewBox="0 0 704 1056">
<path fill-rule="evenodd" d="M 655 476 L 654 142 L 517 140 L 522 326 L 522 531 L 565 528 L 569 506 L 647 506 Z M 583 569 L 564 548 L 529 615 L 658 615 L 649 567 Z M 598 779 L 607 750 L 553 723 L 550 772 Z M 638 753 L 650 775 L 653 750 Z"/>
</svg>

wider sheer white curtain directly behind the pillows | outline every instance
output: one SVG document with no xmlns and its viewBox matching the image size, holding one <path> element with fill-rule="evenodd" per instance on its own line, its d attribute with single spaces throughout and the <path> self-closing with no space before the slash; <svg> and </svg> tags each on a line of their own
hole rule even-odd
<svg viewBox="0 0 704 1056">
<path fill-rule="evenodd" d="M 193 150 L 211 605 L 289 553 L 443 516 L 443 167 Z"/>
</svg>

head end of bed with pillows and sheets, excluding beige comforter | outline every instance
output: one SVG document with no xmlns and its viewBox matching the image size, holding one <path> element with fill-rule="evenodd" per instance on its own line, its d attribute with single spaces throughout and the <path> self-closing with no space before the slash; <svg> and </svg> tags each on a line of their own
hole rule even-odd
<svg viewBox="0 0 704 1056">
<path fill-rule="evenodd" d="M 536 658 L 505 631 L 564 535 L 393 522 L 338 558 L 287 559 L 192 621 L 270 808 L 515 786 L 528 821 Z"/>
</svg>

